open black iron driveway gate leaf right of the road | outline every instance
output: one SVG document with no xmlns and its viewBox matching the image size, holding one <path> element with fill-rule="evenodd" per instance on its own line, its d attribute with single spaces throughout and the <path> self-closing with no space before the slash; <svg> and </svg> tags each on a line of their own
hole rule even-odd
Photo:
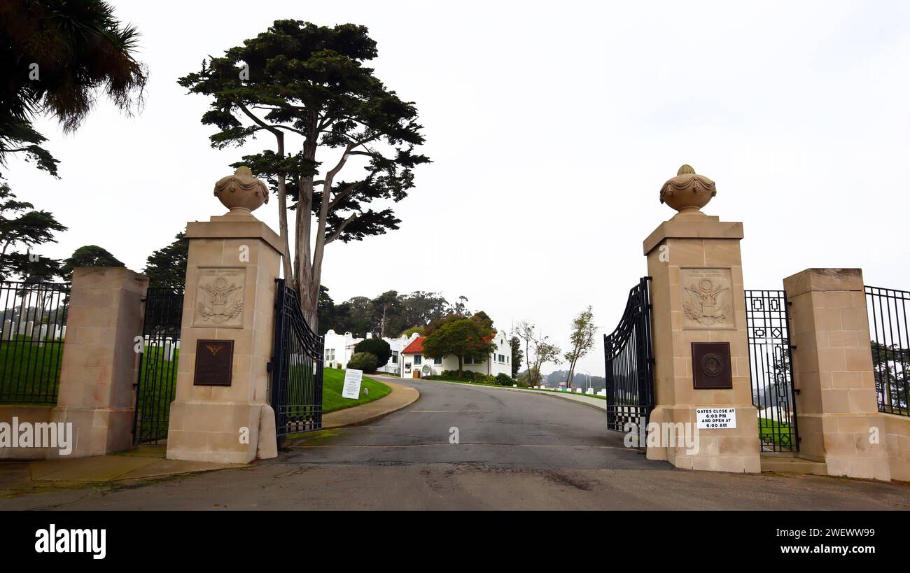
<svg viewBox="0 0 910 573">
<path fill-rule="evenodd" d="M 621 432 L 629 422 L 647 427 L 654 409 L 650 280 L 644 276 L 632 287 L 619 326 L 603 337 L 607 427 Z"/>
</svg>

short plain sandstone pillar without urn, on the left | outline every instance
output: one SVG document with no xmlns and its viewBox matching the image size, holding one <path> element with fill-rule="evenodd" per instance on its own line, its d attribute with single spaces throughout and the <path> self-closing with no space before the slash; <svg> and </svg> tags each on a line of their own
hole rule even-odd
<svg viewBox="0 0 910 573">
<path fill-rule="evenodd" d="M 66 323 L 55 422 L 71 422 L 71 457 L 132 447 L 137 334 L 148 278 L 124 267 L 76 268 Z M 56 456 L 56 450 L 48 456 Z"/>
</svg>

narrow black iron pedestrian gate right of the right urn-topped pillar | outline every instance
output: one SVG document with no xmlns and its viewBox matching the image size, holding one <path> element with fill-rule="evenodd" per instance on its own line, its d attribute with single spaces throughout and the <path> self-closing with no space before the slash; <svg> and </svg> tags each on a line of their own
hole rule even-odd
<svg viewBox="0 0 910 573">
<path fill-rule="evenodd" d="M 758 437 L 763 452 L 799 449 L 787 320 L 783 290 L 745 291 L 752 401 L 758 408 Z"/>
</svg>

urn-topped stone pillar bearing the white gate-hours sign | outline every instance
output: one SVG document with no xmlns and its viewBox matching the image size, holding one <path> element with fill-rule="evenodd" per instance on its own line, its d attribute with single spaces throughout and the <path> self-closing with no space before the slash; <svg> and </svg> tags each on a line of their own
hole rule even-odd
<svg viewBox="0 0 910 573">
<path fill-rule="evenodd" d="M 696 427 L 697 409 L 732 408 L 736 427 L 699 429 L 696 447 L 678 439 L 667 443 L 649 431 L 647 456 L 689 469 L 760 472 L 739 245 L 743 224 L 703 214 L 714 195 L 711 179 L 682 166 L 661 190 L 661 202 L 679 213 L 644 240 L 655 357 L 650 421 L 672 424 L 679 437 Z"/>
</svg>

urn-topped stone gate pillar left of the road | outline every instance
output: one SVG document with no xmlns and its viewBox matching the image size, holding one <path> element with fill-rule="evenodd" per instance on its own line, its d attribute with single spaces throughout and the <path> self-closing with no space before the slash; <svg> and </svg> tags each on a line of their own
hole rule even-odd
<svg viewBox="0 0 910 573">
<path fill-rule="evenodd" d="M 187 287 L 167 457 L 248 463 L 278 455 L 267 364 L 283 248 L 250 213 L 268 203 L 268 189 L 247 167 L 219 180 L 215 195 L 230 212 L 187 224 Z"/>
</svg>

